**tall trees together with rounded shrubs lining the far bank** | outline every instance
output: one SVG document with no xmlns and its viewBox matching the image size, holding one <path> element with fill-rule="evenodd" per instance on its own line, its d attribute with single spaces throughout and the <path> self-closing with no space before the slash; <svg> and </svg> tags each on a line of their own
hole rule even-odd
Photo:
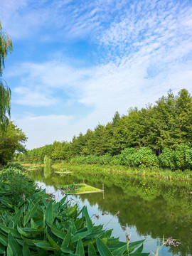
<svg viewBox="0 0 192 256">
<path fill-rule="evenodd" d="M 98 124 L 72 142 L 54 142 L 17 156 L 18 161 L 42 163 L 47 155 L 53 161 L 127 164 L 170 169 L 192 168 L 192 97 L 186 89 L 174 95 L 171 90 L 155 105 L 131 108 L 112 122 Z M 73 159 L 73 160 L 70 160 Z"/>
</svg>

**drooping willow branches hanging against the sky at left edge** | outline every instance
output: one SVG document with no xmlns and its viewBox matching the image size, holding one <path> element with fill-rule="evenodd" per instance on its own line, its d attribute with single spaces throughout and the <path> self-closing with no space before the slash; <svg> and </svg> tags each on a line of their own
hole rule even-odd
<svg viewBox="0 0 192 256">
<path fill-rule="evenodd" d="M 3 75 L 5 59 L 8 53 L 12 51 L 12 42 L 8 33 L 3 30 L 0 22 L 0 77 Z M 6 82 L 0 78 L 0 130 L 4 130 L 9 124 L 11 109 L 11 90 Z"/>
</svg>

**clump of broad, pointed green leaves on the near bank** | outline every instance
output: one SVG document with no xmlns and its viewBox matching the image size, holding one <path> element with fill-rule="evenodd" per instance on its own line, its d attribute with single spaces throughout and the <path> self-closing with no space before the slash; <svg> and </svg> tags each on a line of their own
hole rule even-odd
<svg viewBox="0 0 192 256">
<path fill-rule="evenodd" d="M 149 255 L 142 247 L 133 252 L 144 240 L 129 242 L 127 250 L 112 230 L 93 225 L 86 207 L 78 211 L 68 208 L 66 197 L 57 203 L 46 197 L 38 191 L 14 206 L 9 226 L 0 224 L 0 255 Z"/>
</svg>

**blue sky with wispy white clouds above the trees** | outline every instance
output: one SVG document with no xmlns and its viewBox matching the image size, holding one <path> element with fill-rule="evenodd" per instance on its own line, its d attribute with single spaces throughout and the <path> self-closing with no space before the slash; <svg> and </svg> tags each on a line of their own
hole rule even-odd
<svg viewBox="0 0 192 256">
<path fill-rule="evenodd" d="M 192 92 L 191 0 L 0 0 L 3 78 L 26 149 Z"/>
</svg>

